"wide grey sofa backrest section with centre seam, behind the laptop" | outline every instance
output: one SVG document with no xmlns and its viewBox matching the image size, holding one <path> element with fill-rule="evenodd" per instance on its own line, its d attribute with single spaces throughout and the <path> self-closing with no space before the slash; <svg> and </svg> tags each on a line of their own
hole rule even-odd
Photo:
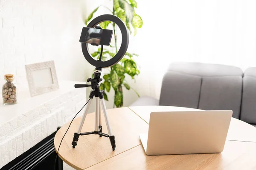
<svg viewBox="0 0 256 170">
<path fill-rule="evenodd" d="M 163 78 L 160 105 L 233 110 L 239 118 L 243 71 L 234 66 L 172 63 Z"/>
</svg>

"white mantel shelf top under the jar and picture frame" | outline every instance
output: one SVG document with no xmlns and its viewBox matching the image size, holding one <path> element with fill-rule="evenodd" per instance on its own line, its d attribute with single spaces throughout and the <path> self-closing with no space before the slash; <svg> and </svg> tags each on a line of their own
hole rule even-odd
<svg viewBox="0 0 256 170">
<path fill-rule="evenodd" d="M 85 82 L 73 82 L 73 81 L 59 81 L 59 89 L 49 93 L 41 94 L 31 97 L 29 89 L 19 89 L 17 86 L 17 104 L 15 105 L 3 105 L 0 103 L 0 125 L 9 122 L 17 116 L 22 115 L 28 111 L 31 111 L 44 104 L 45 102 L 54 99 L 55 97 L 65 94 L 74 89 L 74 84 L 84 84 Z"/>
</svg>

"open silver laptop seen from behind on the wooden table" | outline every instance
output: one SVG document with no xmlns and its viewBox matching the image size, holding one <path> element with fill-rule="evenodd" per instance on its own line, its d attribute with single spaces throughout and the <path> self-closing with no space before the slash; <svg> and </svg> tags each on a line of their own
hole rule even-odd
<svg viewBox="0 0 256 170">
<path fill-rule="evenodd" d="M 148 134 L 140 134 L 147 155 L 221 153 L 233 111 L 152 112 Z"/>
</svg>

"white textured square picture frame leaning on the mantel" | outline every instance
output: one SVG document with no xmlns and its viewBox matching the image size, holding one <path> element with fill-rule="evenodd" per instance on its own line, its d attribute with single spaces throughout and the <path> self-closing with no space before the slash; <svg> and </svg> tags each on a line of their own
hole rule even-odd
<svg viewBox="0 0 256 170">
<path fill-rule="evenodd" d="M 54 61 L 25 65 L 30 96 L 59 89 Z"/>
</svg>

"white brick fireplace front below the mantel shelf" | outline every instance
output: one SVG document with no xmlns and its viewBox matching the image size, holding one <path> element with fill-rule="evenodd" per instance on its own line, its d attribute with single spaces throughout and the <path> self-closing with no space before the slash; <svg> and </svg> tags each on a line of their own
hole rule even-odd
<svg viewBox="0 0 256 170">
<path fill-rule="evenodd" d="M 85 104 L 85 91 L 72 88 L 0 125 L 0 168 L 69 122 Z"/>
</svg>

